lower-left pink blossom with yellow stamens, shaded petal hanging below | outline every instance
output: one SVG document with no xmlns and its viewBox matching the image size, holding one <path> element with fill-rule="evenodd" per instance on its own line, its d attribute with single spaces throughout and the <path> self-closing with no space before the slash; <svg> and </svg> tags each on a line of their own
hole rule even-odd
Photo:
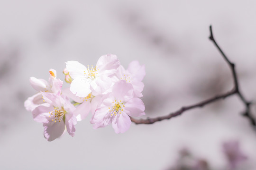
<svg viewBox="0 0 256 170">
<path fill-rule="evenodd" d="M 45 103 L 32 111 L 33 119 L 44 125 L 44 136 L 48 141 L 60 137 L 65 128 L 70 136 L 74 136 L 76 116 L 75 107 L 65 95 L 41 93 Z"/>
</svg>

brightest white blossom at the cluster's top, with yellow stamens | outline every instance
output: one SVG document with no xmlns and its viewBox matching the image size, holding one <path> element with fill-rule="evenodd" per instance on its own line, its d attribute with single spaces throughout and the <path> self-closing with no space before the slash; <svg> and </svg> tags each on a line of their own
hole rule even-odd
<svg viewBox="0 0 256 170">
<path fill-rule="evenodd" d="M 106 92 L 112 84 L 109 76 L 116 72 L 119 65 L 117 56 L 112 54 L 101 56 L 96 67 L 86 68 L 78 61 L 68 61 L 66 68 L 73 78 L 70 91 L 79 97 L 86 97 L 89 93 L 99 95 Z"/>
</svg>

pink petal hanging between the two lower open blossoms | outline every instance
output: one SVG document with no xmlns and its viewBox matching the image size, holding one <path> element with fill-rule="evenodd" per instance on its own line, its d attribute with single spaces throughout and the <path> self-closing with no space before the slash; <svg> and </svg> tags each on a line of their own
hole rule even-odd
<svg viewBox="0 0 256 170">
<path fill-rule="evenodd" d="M 77 121 L 81 121 L 88 116 L 90 111 L 91 111 L 91 102 L 84 101 L 82 104 L 80 104 L 76 108 L 76 110 L 74 111 L 74 115 L 76 116 Z"/>
</svg>

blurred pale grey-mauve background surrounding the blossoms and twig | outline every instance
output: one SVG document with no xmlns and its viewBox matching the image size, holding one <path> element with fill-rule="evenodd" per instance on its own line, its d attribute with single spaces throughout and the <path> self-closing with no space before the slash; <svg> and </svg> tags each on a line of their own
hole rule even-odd
<svg viewBox="0 0 256 170">
<path fill-rule="evenodd" d="M 89 116 L 53 142 L 23 106 L 37 93 L 30 76 L 48 79 L 54 68 L 64 80 L 65 61 L 96 65 L 107 53 L 125 68 L 145 64 L 146 117 L 227 92 L 231 73 L 210 25 L 256 101 L 255 9 L 254 0 L 1 0 L 0 169 L 255 170 L 256 131 L 235 95 L 118 135 L 94 130 Z"/>
</svg>

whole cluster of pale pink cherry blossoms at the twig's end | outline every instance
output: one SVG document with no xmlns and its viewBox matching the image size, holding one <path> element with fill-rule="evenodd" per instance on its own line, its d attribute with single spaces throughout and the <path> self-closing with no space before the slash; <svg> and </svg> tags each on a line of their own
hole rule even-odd
<svg viewBox="0 0 256 170">
<path fill-rule="evenodd" d="M 85 119 L 90 112 L 94 129 L 112 124 L 116 133 L 128 130 L 129 116 L 145 115 L 140 97 L 146 72 L 138 61 L 132 61 L 125 69 L 116 55 L 106 54 L 95 67 L 67 61 L 63 73 L 69 88 L 62 88 L 63 81 L 57 78 L 54 69 L 49 70 L 48 81 L 30 77 L 30 84 L 38 93 L 24 103 L 33 119 L 43 123 L 48 141 L 65 131 L 74 136 L 77 121 Z"/>
</svg>

